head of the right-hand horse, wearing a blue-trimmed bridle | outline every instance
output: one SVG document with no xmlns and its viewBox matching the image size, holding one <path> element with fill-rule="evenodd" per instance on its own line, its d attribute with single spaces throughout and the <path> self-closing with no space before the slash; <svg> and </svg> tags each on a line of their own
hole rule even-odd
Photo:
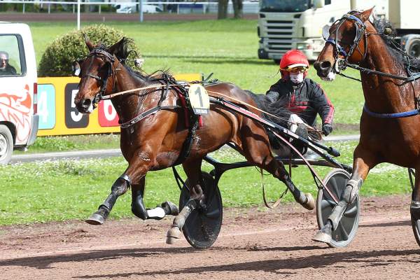
<svg viewBox="0 0 420 280">
<path fill-rule="evenodd" d="M 314 68 L 324 80 L 332 80 L 339 73 L 342 62 L 360 64 L 367 53 L 366 22 L 373 8 L 363 12 L 343 15 L 331 27 L 325 26 L 323 37 L 326 41 Z"/>
</svg>

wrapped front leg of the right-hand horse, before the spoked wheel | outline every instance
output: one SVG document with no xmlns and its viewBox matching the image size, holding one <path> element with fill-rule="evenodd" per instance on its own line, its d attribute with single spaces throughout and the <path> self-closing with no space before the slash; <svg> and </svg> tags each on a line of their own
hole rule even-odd
<svg viewBox="0 0 420 280">
<path fill-rule="evenodd" d="M 339 221 L 341 221 L 346 208 L 352 204 L 358 197 L 360 187 L 366 179 L 370 169 L 376 165 L 374 155 L 367 150 L 363 150 L 359 146 L 354 151 L 353 174 L 346 184 L 346 188 L 340 197 L 339 202 L 332 209 L 332 213 L 328 216 L 325 225 L 316 232 L 314 241 L 330 243 L 332 241 L 332 230 L 337 229 Z"/>
</svg>

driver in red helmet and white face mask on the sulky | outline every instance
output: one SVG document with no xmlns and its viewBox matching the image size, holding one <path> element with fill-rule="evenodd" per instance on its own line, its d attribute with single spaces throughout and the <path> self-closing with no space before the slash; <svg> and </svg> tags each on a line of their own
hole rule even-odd
<svg viewBox="0 0 420 280">
<path fill-rule="evenodd" d="M 289 50 L 280 61 L 281 79 L 267 91 L 270 102 L 283 101 L 294 116 L 293 122 L 307 123 L 313 127 L 316 114 L 321 116 L 322 131 L 326 136 L 332 132 L 334 106 L 318 83 L 307 78 L 309 62 L 299 50 Z M 296 115 L 298 118 L 296 118 Z"/>
</svg>

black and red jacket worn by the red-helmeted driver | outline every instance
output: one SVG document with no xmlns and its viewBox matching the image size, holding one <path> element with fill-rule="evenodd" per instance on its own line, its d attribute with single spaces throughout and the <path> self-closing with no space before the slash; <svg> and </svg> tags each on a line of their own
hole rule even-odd
<svg viewBox="0 0 420 280">
<path fill-rule="evenodd" d="M 313 126 L 316 113 L 321 116 L 322 123 L 332 123 L 334 106 L 318 83 L 305 78 L 299 85 L 280 79 L 267 91 L 267 98 L 272 102 L 283 100 L 286 109 L 297 114 L 305 123 Z"/>
</svg>

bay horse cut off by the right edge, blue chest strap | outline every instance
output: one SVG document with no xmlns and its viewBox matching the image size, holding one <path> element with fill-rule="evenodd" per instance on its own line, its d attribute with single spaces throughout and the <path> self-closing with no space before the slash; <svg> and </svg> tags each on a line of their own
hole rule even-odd
<svg viewBox="0 0 420 280">
<path fill-rule="evenodd" d="M 353 174 L 342 199 L 314 240 L 329 242 L 346 205 L 358 196 L 370 169 L 389 162 L 416 170 L 410 214 L 420 245 L 420 82 L 419 60 L 393 43 L 393 29 L 369 18 L 372 8 L 352 11 L 325 33 L 326 43 L 314 63 L 318 76 L 328 79 L 349 66 L 360 70 L 365 106 L 360 117 L 360 141 L 353 153 Z"/>
</svg>

